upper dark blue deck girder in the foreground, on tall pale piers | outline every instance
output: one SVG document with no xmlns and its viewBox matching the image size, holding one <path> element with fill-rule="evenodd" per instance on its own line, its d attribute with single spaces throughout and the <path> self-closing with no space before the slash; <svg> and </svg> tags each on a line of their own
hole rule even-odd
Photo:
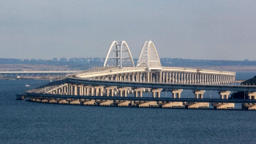
<svg viewBox="0 0 256 144">
<path fill-rule="evenodd" d="M 81 83 L 86 85 L 104 85 L 117 87 L 145 87 L 152 89 L 189 89 L 189 90 L 213 90 L 213 91 L 256 91 L 254 85 L 206 85 L 206 84 L 173 84 L 173 83 L 148 83 L 115 80 L 99 80 L 93 78 L 76 78 L 67 76 L 67 81 L 71 83 Z"/>
</svg>

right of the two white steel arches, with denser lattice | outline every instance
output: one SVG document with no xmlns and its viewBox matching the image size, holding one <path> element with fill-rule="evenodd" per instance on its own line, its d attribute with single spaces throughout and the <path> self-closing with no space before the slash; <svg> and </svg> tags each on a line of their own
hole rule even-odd
<svg viewBox="0 0 256 144">
<path fill-rule="evenodd" d="M 143 44 L 141 49 L 141 53 L 138 58 L 137 68 L 147 68 L 148 70 L 161 70 L 161 62 L 156 51 L 156 47 L 154 43 L 150 41 L 146 41 Z"/>
</svg>

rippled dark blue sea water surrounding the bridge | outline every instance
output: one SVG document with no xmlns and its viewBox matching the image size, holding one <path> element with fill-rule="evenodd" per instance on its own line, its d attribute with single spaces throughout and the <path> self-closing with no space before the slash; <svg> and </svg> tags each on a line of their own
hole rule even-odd
<svg viewBox="0 0 256 144">
<path fill-rule="evenodd" d="M 237 73 L 248 79 L 255 72 Z M 45 80 L 0 80 L 0 143 L 256 143 L 256 111 L 125 108 L 16 100 Z M 31 85 L 26 87 L 25 85 Z M 171 93 L 162 92 L 161 96 Z M 183 91 L 181 97 L 193 96 Z M 207 91 L 204 97 L 217 98 Z"/>
</svg>

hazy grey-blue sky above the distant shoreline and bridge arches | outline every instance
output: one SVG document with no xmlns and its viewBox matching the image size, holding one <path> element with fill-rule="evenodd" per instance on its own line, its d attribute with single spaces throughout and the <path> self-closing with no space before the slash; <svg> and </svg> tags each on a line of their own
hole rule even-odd
<svg viewBox="0 0 256 144">
<path fill-rule="evenodd" d="M 0 58 L 105 57 L 113 40 L 133 58 L 256 60 L 256 0 L 0 0 Z"/>
</svg>

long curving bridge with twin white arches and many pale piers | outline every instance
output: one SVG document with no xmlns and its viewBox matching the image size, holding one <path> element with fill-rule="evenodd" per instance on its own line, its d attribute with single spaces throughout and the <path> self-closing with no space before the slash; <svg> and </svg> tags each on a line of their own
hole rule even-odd
<svg viewBox="0 0 256 144">
<path fill-rule="evenodd" d="M 58 85 L 45 85 L 27 91 L 26 95 L 32 101 L 49 103 L 73 104 L 75 101 L 76 104 L 85 105 L 206 108 L 211 102 L 216 109 L 226 109 L 234 108 L 234 103 L 241 102 L 245 109 L 256 109 L 256 86 L 234 85 L 234 82 L 235 72 L 162 67 L 152 41 L 143 44 L 135 66 L 128 44 L 125 41 L 113 41 L 101 68 L 70 74 L 60 80 Z M 161 98 L 163 89 L 172 92 L 171 99 Z M 192 90 L 195 97 L 181 98 L 183 89 Z M 203 94 L 207 90 L 218 91 L 220 100 L 205 100 Z M 228 100 L 231 91 L 244 91 L 247 100 Z M 144 98 L 144 92 L 151 92 L 153 97 Z M 134 93 L 134 97 L 127 97 L 129 93 Z M 58 97 L 54 98 L 54 95 Z M 108 97 L 115 99 L 110 100 Z"/>
</svg>

